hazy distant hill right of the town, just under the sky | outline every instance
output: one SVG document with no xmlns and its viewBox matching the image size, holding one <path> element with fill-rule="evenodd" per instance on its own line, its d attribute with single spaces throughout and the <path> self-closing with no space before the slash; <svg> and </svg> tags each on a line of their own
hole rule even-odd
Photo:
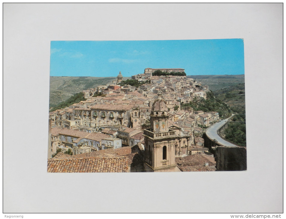
<svg viewBox="0 0 286 219">
<path fill-rule="evenodd" d="M 216 91 L 222 88 L 244 83 L 244 74 L 239 75 L 188 75 L 203 85 L 209 85 L 209 90 Z"/>
</svg>

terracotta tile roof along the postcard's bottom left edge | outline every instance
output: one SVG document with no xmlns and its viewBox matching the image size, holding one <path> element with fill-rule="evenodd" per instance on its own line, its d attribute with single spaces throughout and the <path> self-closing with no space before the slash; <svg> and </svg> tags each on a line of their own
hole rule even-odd
<svg viewBox="0 0 286 219">
<path fill-rule="evenodd" d="M 48 159 L 48 173 L 127 173 L 128 158 Z"/>
</svg>

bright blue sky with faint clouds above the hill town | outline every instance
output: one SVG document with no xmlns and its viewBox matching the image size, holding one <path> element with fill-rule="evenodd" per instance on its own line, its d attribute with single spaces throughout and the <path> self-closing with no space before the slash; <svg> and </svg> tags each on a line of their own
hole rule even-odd
<svg viewBox="0 0 286 219">
<path fill-rule="evenodd" d="M 51 41 L 51 76 L 128 77 L 147 67 L 244 74 L 243 40 Z"/>
</svg>

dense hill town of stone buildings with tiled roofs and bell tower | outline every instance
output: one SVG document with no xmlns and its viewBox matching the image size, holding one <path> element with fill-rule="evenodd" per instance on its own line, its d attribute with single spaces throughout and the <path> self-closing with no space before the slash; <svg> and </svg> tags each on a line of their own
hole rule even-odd
<svg viewBox="0 0 286 219">
<path fill-rule="evenodd" d="M 219 115 L 181 110 L 209 91 L 184 71 L 146 68 L 132 76 L 145 82 L 139 87 L 120 86 L 119 72 L 113 83 L 84 90 L 85 101 L 50 112 L 48 172 L 215 171 L 202 135 Z"/>
</svg>

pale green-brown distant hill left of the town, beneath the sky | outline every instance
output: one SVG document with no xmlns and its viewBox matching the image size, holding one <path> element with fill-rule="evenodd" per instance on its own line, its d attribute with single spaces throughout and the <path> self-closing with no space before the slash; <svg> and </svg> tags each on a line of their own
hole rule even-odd
<svg viewBox="0 0 286 219">
<path fill-rule="evenodd" d="M 131 77 L 123 77 L 124 80 Z M 62 101 L 99 85 L 112 83 L 116 77 L 68 77 L 68 76 L 50 76 L 50 108 L 56 106 Z"/>
</svg>

